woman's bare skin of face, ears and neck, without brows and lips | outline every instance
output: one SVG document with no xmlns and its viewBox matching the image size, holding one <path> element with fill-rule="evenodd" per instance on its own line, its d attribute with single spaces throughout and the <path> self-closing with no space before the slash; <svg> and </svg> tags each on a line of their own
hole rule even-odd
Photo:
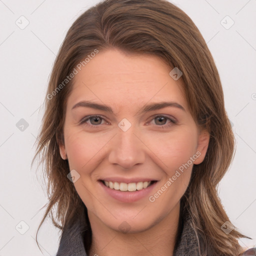
<svg viewBox="0 0 256 256">
<path fill-rule="evenodd" d="M 70 170 L 80 175 L 74 187 L 88 209 L 92 228 L 89 256 L 173 253 L 180 198 L 192 165 L 204 159 L 209 133 L 197 127 L 188 110 L 182 81 L 169 75 L 171 69 L 155 55 L 127 55 L 111 48 L 99 51 L 73 78 L 64 144 L 59 150 L 61 157 L 68 159 Z M 72 109 L 81 100 L 108 105 L 113 113 L 84 106 Z M 145 104 L 164 100 L 177 102 L 184 110 L 168 106 L 137 115 Z M 81 124 L 88 115 L 100 115 L 102 119 L 91 118 Z M 161 116 L 166 119 L 159 120 Z M 131 123 L 127 131 L 118 127 L 123 118 Z M 175 118 L 177 123 L 168 118 Z M 150 202 L 148 196 L 166 184 L 196 152 L 200 156 Z M 110 176 L 158 181 L 149 195 L 135 202 L 120 202 L 104 193 L 98 181 Z M 123 221 L 128 223 L 126 232 L 119 229 Z"/>
</svg>

